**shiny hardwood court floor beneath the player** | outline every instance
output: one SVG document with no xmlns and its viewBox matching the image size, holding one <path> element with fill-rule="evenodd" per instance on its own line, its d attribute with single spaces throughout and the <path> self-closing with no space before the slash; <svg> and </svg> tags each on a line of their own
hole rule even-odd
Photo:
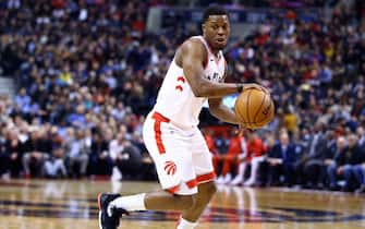
<svg viewBox="0 0 365 229">
<path fill-rule="evenodd" d="M 157 183 L 0 181 L 0 229 L 98 229 L 97 194 L 158 190 Z M 172 229 L 178 213 L 134 213 L 120 228 Z M 354 194 L 219 186 L 197 229 L 360 229 L 365 198 Z"/>
</svg>

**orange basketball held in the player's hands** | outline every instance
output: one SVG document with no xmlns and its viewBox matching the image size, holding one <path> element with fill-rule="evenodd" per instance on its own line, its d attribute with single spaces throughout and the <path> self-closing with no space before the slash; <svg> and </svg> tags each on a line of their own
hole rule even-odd
<svg viewBox="0 0 365 229">
<path fill-rule="evenodd" d="M 255 130 L 269 123 L 275 114 L 270 94 L 257 89 L 244 89 L 234 104 L 234 112 L 243 128 Z"/>
</svg>

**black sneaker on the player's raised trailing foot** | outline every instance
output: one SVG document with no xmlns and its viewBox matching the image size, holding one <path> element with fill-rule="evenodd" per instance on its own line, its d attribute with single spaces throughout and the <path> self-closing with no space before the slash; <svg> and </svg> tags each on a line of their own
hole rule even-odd
<svg viewBox="0 0 365 229">
<path fill-rule="evenodd" d="M 108 194 L 100 193 L 98 195 L 98 205 L 99 205 L 99 228 L 100 229 L 117 229 L 119 226 L 119 218 L 123 214 L 129 214 L 123 208 L 113 207 L 111 208 L 111 215 L 108 214 L 108 205 L 110 202 L 120 197 L 120 194 Z"/>
</svg>

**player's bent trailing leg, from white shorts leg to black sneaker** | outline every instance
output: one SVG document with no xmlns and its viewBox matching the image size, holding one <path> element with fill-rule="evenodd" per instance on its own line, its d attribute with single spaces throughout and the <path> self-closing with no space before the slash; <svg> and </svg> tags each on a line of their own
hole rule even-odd
<svg viewBox="0 0 365 229">
<path fill-rule="evenodd" d="M 185 138 L 179 134 L 169 123 L 146 120 L 144 141 L 155 161 L 158 178 L 165 191 L 130 196 L 99 195 L 101 229 L 115 229 L 119 225 L 120 212 L 192 208 L 197 193 L 194 165 L 192 154 L 185 146 Z"/>
</svg>

